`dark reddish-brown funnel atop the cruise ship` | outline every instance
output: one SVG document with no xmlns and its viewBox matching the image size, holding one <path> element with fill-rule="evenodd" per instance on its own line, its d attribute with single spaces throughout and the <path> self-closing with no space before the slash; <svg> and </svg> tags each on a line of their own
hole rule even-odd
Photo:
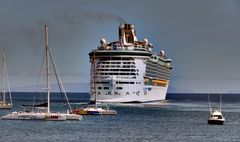
<svg viewBox="0 0 240 142">
<path fill-rule="evenodd" d="M 137 41 L 136 31 L 132 24 L 119 26 L 119 41 L 123 45 L 134 44 Z"/>
</svg>

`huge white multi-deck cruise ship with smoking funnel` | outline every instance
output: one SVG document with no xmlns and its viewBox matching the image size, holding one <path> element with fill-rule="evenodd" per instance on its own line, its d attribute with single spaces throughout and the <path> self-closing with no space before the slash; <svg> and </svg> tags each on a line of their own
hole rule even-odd
<svg viewBox="0 0 240 142">
<path fill-rule="evenodd" d="M 119 26 L 119 40 L 100 40 L 89 53 L 91 100 L 98 103 L 144 103 L 164 100 L 172 60 L 153 52 L 148 39 L 137 39 L 134 25 Z"/>
</svg>

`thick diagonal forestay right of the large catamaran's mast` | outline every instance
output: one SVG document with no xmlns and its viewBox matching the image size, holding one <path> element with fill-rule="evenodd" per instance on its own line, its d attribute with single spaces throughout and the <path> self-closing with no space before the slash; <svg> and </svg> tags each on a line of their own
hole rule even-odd
<svg viewBox="0 0 240 142">
<path fill-rule="evenodd" d="M 58 87 L 59 87 L 60 91 L 64 93 L 65 98 L 66 98 L 66 101 L 67 101 L 67 103 L 68 103 L 68 107 L 69 107 L 70 112 L 71 112 L 71 111 L 72 111 L 72 107 L 71 107 L 71 105 L 70 105 L 70 103 L 69 103 L 69 100 L 68 100 L 68 97 L 67 97 L 67 94 L 66 94 L 66 90 L 65 90 L 65 88 L 64 88 L 64 86 L 63 86 L 63 83 L 62 83 L 62 80 L 61 80 L 61 78 L 60 78 L 60 76 L 59 76 L 59 72 L 58 72 L 58 70 L 57 70 L 56 64 L 55 64 L 55 62 L 54 62 L 54 60 L 53 60 L 53 56 L 52 56 L 51 50 L 50 50 L 49 48 L 48 48 L 48 52 L 49 52 L 49 55 L 50 55 L 50 59 L 51 59 L 51 61 L 52 61 L 54 73 L 55 73 L 55 76 L 56 76 L 56 79 L 57 79 L 57 82 L 58 82 Z"/>
</svg>

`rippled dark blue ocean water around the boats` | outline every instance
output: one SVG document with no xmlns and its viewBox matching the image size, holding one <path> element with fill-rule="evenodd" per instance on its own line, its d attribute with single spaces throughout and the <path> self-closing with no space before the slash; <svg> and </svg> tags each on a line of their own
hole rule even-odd
<svg viewBox="0 0 240 142">
<path fill-rule="evenodd" d="M 14 108 L 38 102 L 39 93 L 13 93 Z M 44 95 L 43 95 L 44 96 Z M 64 111 L 61 95 L 52 95 L 52 111 Z M 166 101 L 149 104 L 110 104 L 116 116 L 83 116 L 81 121 L 0 120 L 0 142 L 232 142 L 240 141 L 240 95 L 223 94 L 224 125 L 208 125 L 207 94 L 167 94 Z M 210 95 L 219 106 L 219 94 Z M 89 100 L 71 93 L 72 107 Z M 34 100 L 34 101 L 33 101 Z M 44 100 L 44 99 L 43 99 Z"/>
</svg>

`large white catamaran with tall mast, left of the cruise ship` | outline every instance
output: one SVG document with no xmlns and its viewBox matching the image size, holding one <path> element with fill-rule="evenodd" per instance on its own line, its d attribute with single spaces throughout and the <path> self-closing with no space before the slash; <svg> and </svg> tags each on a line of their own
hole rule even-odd
<svg viewBox="0 0 240 142">
<path fill-rule="evenodd" d="M 11 114 L 7 114 L 2 116 L 2 119 L 8 119 L 8 120 L 52 120 L 52 121 L 63 121 L 63 120 L 81 120 L 82 116 L 77 114 L 71 114 L 69 111 L 66 113 L 60 113 L 60 112 L 51 112 L 50 110 L 50 59 L 52 61 L 52 66 L 55 71 L 55 75 L 58 81 L 58 84 L 60 85 L 59 88 L 64 91 L 65 97 L 67 99 L 67 102 L 69 104 L 69 108 L 71 111 L 71 106 L 68 101 L 66 91 L 62 85 L 61 79 L 57 73 L 56 66 L 54 63 L 54 60 L 52 58 L 52 54 L 50 52 L 50 49 L 48 47 L 48 27 L 45 25 L 45 60 L 46 60 L 46 80 L 47 80 L 47 108 L 45 106 L 37 106 L 32 107 L 29 111 L 23 111 L 23 112 L 12 112 Z M 49 59 L 50 57 L 50 59 Z"/>
</svg>

